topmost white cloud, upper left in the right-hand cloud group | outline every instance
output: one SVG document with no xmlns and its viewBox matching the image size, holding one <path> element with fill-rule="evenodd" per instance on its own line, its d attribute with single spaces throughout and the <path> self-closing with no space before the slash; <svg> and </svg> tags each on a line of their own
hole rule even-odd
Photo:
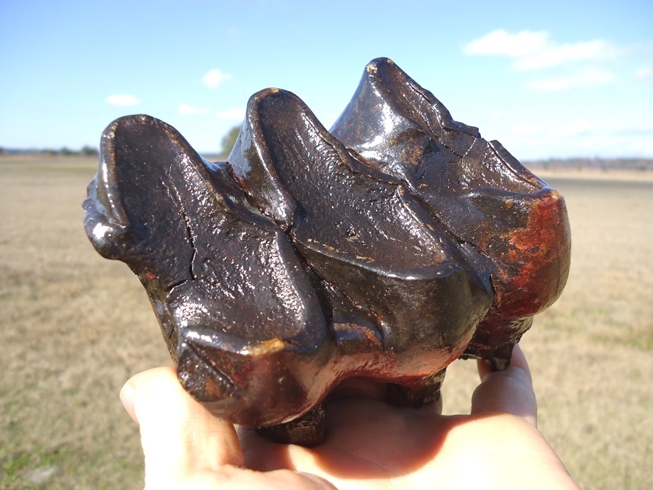
<svg viewBox="0 0 653 490">
<path fill-rule="evenodd" d="M 497 54 L 512 58 L 524 57 L 543 48 L 548 40 L 548 32 L 530 32 L 523 30 L 510 34 L 503 29 L 493 30 L 484 37 L 468 43 L 466 54 Z"/>
</svg>

